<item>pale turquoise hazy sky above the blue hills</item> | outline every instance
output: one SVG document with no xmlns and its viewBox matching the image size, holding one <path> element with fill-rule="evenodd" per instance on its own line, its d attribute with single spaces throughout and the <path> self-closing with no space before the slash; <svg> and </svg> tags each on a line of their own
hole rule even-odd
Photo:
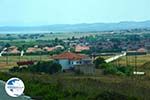
<svg viewBox="0 0 150 100">
<path fill-rule="evenodd" d="M 1 26 L 150 20 L 150 0 L 0 0 Z"/>
</svg>

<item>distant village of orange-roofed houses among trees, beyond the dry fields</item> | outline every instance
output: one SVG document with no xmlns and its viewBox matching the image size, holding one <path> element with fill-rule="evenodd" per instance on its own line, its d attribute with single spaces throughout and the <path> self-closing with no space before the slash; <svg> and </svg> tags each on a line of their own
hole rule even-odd
<svg viewBox="0 0 150 100">
<path fill-rule="evenodd" d="M 25 41 L 25 40 L 17 40 L 18 44 L 23 43 L 23 45 L 16 44 L 16 39 L 9 41 L 3 41 L 0 43 L 0 51 L 1 53 L 5 54 L 6 52 L 9 54 L 18 54 L 20 52 L 24 52 L 27 54 L 37 54 L 41 53 L 48 53 L 53 51 L 66 51 L 70 49 L 72 52 L 76 53 L 114 53 L 114 52 L 133 52 L 133 51 L 144 51 L 148 52 L 150 49 L 150 39 L 149 34 L 147 33 L 126 33 L 125 32 L 104 32 L 104 33 L 97 33 L 89 36 L 82 36 L 76 37 L 72 36 L 67 39 L 59 39 L 54 38 L 53 40 L 40 40 L 37 37 L 37 40 L 32 41 Z M 62 33 L 63 34 L 63 33 Z M 68 33 L 69 34 L 69 33 Z M 86 34 L 86 33 L 81 33 Z M 39 35 L 38 35 L 39 36 Z M 43 34 L 43 37 L 47 35 Z M 51 35 L 53 36 L 53 35 Z M 6 35 L 7 37 L 7 35 Z M 26 38 L 30 36 L 26 35 Z M 10 36 L 8 35 L 8 39 Z M 13 36 L 12 36 L 13 38 Z M 7 38 L 6 38 L 7 39 Z M 6 49 L 7 48 L 7 49 Z"/>
</svg>

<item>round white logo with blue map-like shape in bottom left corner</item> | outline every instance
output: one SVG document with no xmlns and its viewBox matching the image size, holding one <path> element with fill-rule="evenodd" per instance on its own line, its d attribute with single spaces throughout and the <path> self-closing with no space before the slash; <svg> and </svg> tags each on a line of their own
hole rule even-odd
<svg viewBox="0 0 150 100">
<path fill-rule="evenodd" d="M 11 78 L 6 82 L 5 90 L 11 97 L 19 97 L 25 89 L 24 83 L 19 78 Z"/>
</svg>

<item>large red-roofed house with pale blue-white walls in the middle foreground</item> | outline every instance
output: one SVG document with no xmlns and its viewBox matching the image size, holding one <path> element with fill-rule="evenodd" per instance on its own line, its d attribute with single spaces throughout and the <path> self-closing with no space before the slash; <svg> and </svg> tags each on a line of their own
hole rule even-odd
<svg viewBox="0 0 150 100">
<path fill-rule="evenodd" d="M 91 64 L 92 60 L 87 55 L 75 54 L 71 52 L 64 52 L 53 57 L 63 70 L 74 68 L 76 65 Z"/>
</svg>

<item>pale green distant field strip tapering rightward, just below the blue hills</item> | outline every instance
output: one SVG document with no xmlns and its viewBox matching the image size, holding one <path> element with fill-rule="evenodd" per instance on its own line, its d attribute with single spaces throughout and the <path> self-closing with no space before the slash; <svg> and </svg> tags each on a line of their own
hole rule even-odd
<svg viewBox="0 0 150 100">
<path fill-rule="evenodd" d="M 24 35 L 22 34 L 21 36 L 26 37 L 27 39 L 23 39 L 20 38 L 18 34 L 11 34 L 11 38 L 10 36 L 7 36 L 6 34 L 0 34 L 0 42 L 10 42 L 10 41 L 35 41 L 35 40 L 54 40 L 55 38 L 58 39 L 68 39 L 68 38 L 80 38 L 80 37 L 84 37 L 84 36 L 90 36 L 90 35 L 98 35 L 98 34 L 102 34 L 100 32 L 91 32 L 91 33 L 82 33 L 82 32 L 66 32 L 66 33 L 40 33 L 37 36 L 32 36 L 34 34 L 28 34 L 28 35 Z M 43 35 L 42 37 L 40 35 Z"/>
</svg>

